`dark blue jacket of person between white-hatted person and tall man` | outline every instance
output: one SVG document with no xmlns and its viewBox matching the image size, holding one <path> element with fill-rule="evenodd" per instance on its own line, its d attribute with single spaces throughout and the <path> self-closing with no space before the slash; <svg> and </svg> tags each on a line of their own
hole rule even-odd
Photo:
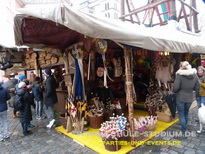
<svg viewBox="0 0 205 154">
<path fill-rule="evenodd" d="M 32 93 L 35 101 L 39 102 L 43 100 L 43 91 L 38 81 L 33 82 Z"/>
</svg>

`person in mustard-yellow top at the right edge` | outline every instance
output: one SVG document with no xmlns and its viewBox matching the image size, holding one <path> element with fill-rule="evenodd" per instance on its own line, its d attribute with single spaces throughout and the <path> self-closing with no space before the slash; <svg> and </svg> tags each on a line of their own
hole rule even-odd
<svg viewBox="0 0 205 154">
<path fill-rule="evenodd" d="M 205 72 L 205 69 L 203 66 L 199 66 L 197 68 L 197 74 L 198 74 L 200 85 L 201 85 L 199 92 L 196 92 L 198 108 L 201 107 L 201 104 L 205 105 L 205 73 L 204 72 Z"/>
</svg>

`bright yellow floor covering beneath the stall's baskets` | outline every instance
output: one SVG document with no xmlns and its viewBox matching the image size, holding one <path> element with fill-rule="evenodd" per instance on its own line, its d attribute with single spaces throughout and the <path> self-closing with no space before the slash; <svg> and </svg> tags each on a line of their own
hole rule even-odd
<svg viewBox="0 0 205 154">
<path fill-rule="evenodd" d="M 148 115 L 147 112 L 135 110 L 135 117 L 136 116 L 146 116 L 146 115 Z M 155 129 L 155 133 L 150 134 L 150 136 L 147 139 L 145 139 L 144 141 L 140 141 L 140 144 L 136 145 L 136 147 L 132 147 L 128 142 L 125 141 L 125 142 L 123 142 L 123 146 L 121 147 L 121 149 L 119 151 L 116 151 L 116 152 L 107 151 L 105 149 L 103 141 L 99 135 L 99 129 L 89 128 L 88 131 L 86 131 L 83 134 L 79 134 L 79 135 L 74 135 L 72 133 L 66 133 L 66 130 L 62 126 L 56 127 L 56 130 L 67 135 L 68 137 L 73 138 L 75 141 L 87 146 L 88 148 L 96 151 L 97 153 L 100 153 L 100 154 L 109 154 L 109 153 L 110 154 L 115 154 L 115 153 L 116 154 L 125 154 L 125 153 L 128 153 L 129 151 L 139 147 L 140 145 L 144 144 L 146 141 L 148 141 L 152 137 L 154 137 L 154 135 L 159 134 L 160 132 L 164 131 L 165 129 L 172 126 L 177 121 L 178 121 L 178 119 L 176 119 L 175 121 L 170 122 L 170 123 L 158 121 L 157 127 Z M 126 145 L 126 143 L 129 145 Z M 148 142 L 146 142 L 146 143 L 148 144 Z M 155 144 L 155 143 L 152 143 L 152 144 Z"/>
</svg>

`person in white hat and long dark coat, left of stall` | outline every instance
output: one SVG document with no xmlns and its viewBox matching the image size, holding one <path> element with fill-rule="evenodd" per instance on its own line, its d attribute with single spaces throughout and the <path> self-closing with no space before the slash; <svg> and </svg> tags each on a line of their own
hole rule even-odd
<svg viewBox="0 0 205 154">
<path fill-rule="evenodd" d="M 26 87 L 25 82 L 20 82 L 18 84 L 18 88 L 19 90 L 17 91 L 17 95 L 22 97 L 22 102 L 24 104 L 23 109 L 20 110 L 20 122 L 22 125 L 23 134 L 26 136 L 32 133 L 28 130 L 28 126 L 32 120 L 31 104 L 33 103 L 33 97 L 31 96 L 29 89 Z"/>
</svg>

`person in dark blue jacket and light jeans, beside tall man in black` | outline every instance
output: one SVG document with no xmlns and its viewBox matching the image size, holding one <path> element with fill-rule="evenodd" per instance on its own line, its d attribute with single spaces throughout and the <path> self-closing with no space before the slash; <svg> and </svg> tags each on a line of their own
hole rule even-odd
<svg viewBox="0 0 205 154">
<path fill-rule="evenodd" d="M 33 82 L 32 93 L 36 102 L 36 119 L 42 119 L 42 108 L 43 108 L 43 90 L 40 83 L 40 77 L 35 77 Z"/>
</svg>

